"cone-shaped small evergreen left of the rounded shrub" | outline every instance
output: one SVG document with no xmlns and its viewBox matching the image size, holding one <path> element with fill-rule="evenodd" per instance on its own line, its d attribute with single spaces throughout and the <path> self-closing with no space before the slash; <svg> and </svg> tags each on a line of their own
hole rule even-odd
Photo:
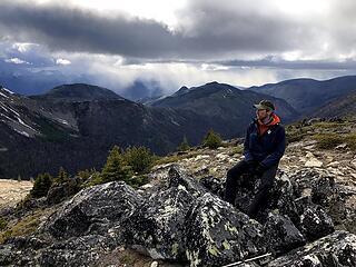
<svg viewBox="0 0 356 267">
<path fill-rule="evenodd" d="M 131 167 L 128 166 L 123 155 L 118 146 L 113 146 L 108 156 L 107 162 L 101 171 L 101 181 L 123 180 L 130 184 L 132 177 Z"/>
</svg>

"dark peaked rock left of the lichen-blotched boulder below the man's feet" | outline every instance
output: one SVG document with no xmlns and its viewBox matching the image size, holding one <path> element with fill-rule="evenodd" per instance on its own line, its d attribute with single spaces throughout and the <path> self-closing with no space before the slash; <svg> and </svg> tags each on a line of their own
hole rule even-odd
<svg viewBox="0 0 356 267">
<path fill-rule="evenodd" d="M 205 191 L 197 180 L 172 166 L 167 185 L 154 191 L 118 231 L 125 229 L 126 244 L 155 259 L 184 259 L 186 215 Z"/>
</svg>

